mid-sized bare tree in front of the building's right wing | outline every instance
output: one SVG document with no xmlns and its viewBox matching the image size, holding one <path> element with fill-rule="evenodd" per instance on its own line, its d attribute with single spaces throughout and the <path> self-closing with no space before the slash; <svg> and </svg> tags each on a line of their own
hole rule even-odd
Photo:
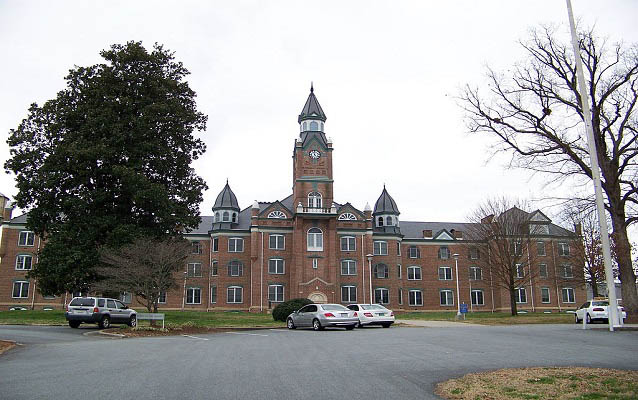
<svg viewBox="0 0 638 400">
<path fill-rule="evenodd" d="M 493 284 L 507 290 L 510 311 L 517 315 L 516 291 L 538 276 L 537 232 L 530 226 L 526 204 L 506 198 L 491 199 L 470 216 L 468 237 L 482 243 L 476 263 L 491 273 Z"/>
</svg>

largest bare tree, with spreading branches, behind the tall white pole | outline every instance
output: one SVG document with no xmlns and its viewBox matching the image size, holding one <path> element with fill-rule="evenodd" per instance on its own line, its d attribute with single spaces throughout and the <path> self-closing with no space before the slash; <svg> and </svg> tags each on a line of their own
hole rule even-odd
<svg viewBox="0 0 638 400">
<path fill-rule="evenodd" d="M 566 30 L 565 30 L 566 31 Z M 606 209 L 611 218 L 627 311 L 638 315 L 636 274 L 627 227 L 638 221 L 638 47 L 579 33 Z M 592 178 L 581 93 L 567 36 L 533 30 L 521 42 L 528 58 L 507 74 L 488 69 L 488 94 L 465 87 L 460 103 L 471 132 L 495 139 L 511 166 L 549 174 L 555 182 Z"/>
</svg>

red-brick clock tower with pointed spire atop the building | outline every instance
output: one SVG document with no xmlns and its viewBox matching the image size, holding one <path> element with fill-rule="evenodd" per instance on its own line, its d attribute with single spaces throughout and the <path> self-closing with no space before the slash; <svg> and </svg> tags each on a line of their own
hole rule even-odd
<svg viewBox="0 0 638 400">
<path fill-rule="evenodd" d="M 293 150 L 293 207 L 304 213 L 330 213 L 332 207 L 332 141 L 326 138 L 324 114 L 310 86 L 298 118 L 299 138 Z"/>
</svg>

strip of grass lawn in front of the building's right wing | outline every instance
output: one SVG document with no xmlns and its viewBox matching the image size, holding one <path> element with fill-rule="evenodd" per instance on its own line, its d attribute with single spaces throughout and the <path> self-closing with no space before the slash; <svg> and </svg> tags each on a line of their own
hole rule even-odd
<svg viewBox="0 0 638 400">
<path fill-rule="evenodd" d="M 456 312 L 412 312 L 397 313 L 397 319 L 418 319 L 425 321 L 456 321 Z M 463 322 L 463 320 L 461 320 Z M 554 312 L 526 313 L 513 317 L 503 312 L 469 312 L 465 315 L 465 322 L 481 325 L 516 325 L 516 324 L 569 324 L 574 322 L 574 315 Z"/>
</svg>

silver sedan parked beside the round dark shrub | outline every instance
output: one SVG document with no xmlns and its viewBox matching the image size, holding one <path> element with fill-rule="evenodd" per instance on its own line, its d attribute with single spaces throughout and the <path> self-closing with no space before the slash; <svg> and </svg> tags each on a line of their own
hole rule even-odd
<svg viewBox="0 0 638 400">
<path fill-rule="evenodd" d="M 358 323 L 357 313 L 341 304 L 308 304 L 286 319 L 288 329 L 312 327 L 316 331 L 325 327 L 352 330 Z"/>
</svg>

